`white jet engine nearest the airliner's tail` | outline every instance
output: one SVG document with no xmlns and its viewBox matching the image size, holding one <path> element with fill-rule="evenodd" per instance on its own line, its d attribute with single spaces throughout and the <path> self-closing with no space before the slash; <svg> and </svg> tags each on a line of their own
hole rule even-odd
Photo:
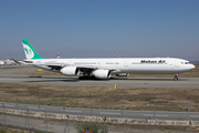
<svg viewBox="0 0 199 133">
<path fill-rule="evenodd" d="M 80 74 L 80 70 L 76 66 L 65 66 L 63 69 L 60 70 L 60 72 L 64 75 L 69 75 L 69 76 L 75 76 Z"/>
</svg>

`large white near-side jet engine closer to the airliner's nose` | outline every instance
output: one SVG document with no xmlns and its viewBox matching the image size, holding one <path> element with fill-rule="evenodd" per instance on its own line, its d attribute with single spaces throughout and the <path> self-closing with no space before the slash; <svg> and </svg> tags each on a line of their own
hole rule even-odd
<svg viewBox="0 0 199 133">
<path fill-rule="evenodd" d="M 96 79 L 109 79 L 111 71 L 109 70 L 95 70 L 92 73 Z"/>
</svg>

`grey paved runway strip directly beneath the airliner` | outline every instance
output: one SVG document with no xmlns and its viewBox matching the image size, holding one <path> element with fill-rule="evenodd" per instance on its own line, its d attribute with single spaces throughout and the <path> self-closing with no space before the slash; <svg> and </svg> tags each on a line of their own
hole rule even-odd
<svg viewBox="0 0 199 133">
<path fill-rule="evenodd" d="M 114 86 L 117 88 L 175 88 L 175 89 L 199 89 L 199 78 L 112 78 L 111 80 L 78 80 L 77 76 L 57 75 L 22 75 L 20 72 L 35 71 L 36 68 L 0 69 L 0 83 L 25 83 L 72 86 Z"/>
</svg>

